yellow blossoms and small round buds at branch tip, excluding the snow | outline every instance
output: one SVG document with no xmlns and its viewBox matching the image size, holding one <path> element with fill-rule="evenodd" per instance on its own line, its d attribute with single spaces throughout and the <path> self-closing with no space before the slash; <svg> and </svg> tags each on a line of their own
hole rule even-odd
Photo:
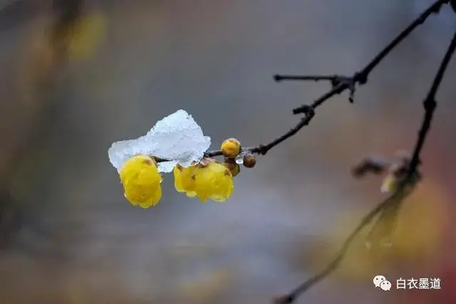
<svg viewBox="0 0 456 304">
<path fill-rule="evenodd" d="M 242 152 L 239 140 L 229 138 L 222 143 L 224 162 L 205 157 L 189 167 L 176 164 L 172 169 L 177 192 L 197 197 L 205 202 L 226 201 L 234 189 L 233 177 L 240 172 L 237 159 L 242 158 L 244 167 L 252 168 L 256 159 L 252 153 Z M 241 154 L 242 152 L 242 154 Z M 135 206 L 148 208 L 158 204 L 162 197 L 162 175 L 153 157 L 138 154 L 128 159 L 119 169 L 120 182 L 125 197 Z"/>
</svg>

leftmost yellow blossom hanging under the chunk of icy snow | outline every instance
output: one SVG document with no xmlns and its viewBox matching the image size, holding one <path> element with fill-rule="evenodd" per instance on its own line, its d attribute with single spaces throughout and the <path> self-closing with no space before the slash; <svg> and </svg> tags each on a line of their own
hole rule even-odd
<svg viewBox="0 0 456 304">
<path fill-rule="evenodd" d="M 162 176 L 157 164 L 147 155 L 136 155 L 128 159 L 120 169 L 120 181 L 125 197 L 134 206 L 155 206 L 162 198 Z"/>
</svg>

